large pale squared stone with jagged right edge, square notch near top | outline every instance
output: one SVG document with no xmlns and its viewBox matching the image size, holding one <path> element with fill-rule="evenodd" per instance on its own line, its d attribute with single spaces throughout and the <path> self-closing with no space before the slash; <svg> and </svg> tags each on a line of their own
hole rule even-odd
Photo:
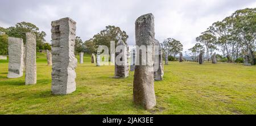
<svg viewBox="0 0 256 126">
<path fill-rule="evenodd" d="M 52 94 L 65 95 L 76 90 L 76 22 L 70 18 L 52 24 Z"/>
</svg>

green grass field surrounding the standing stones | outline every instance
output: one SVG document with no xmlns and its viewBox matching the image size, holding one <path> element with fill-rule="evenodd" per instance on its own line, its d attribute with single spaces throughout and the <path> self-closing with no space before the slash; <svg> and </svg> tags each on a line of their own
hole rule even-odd
<svg viewBox="0 0 256 126">
<path fill-rule="evenodd" d="M 78 59 L 79 60 L 79 59 Z M 256 66 L 169 62 L 164 81 L 155 82 L 157 105 L 133 104 L 133 74 L 114 79 L 114 66 L 96 67 L 90 57 L 78 64 L 77 90 L 51 94 L 51 66 L 38 54 L 37 83 L 9 79 L 0 60 L 0 114 L 256 114 Z"/>
</svg>

